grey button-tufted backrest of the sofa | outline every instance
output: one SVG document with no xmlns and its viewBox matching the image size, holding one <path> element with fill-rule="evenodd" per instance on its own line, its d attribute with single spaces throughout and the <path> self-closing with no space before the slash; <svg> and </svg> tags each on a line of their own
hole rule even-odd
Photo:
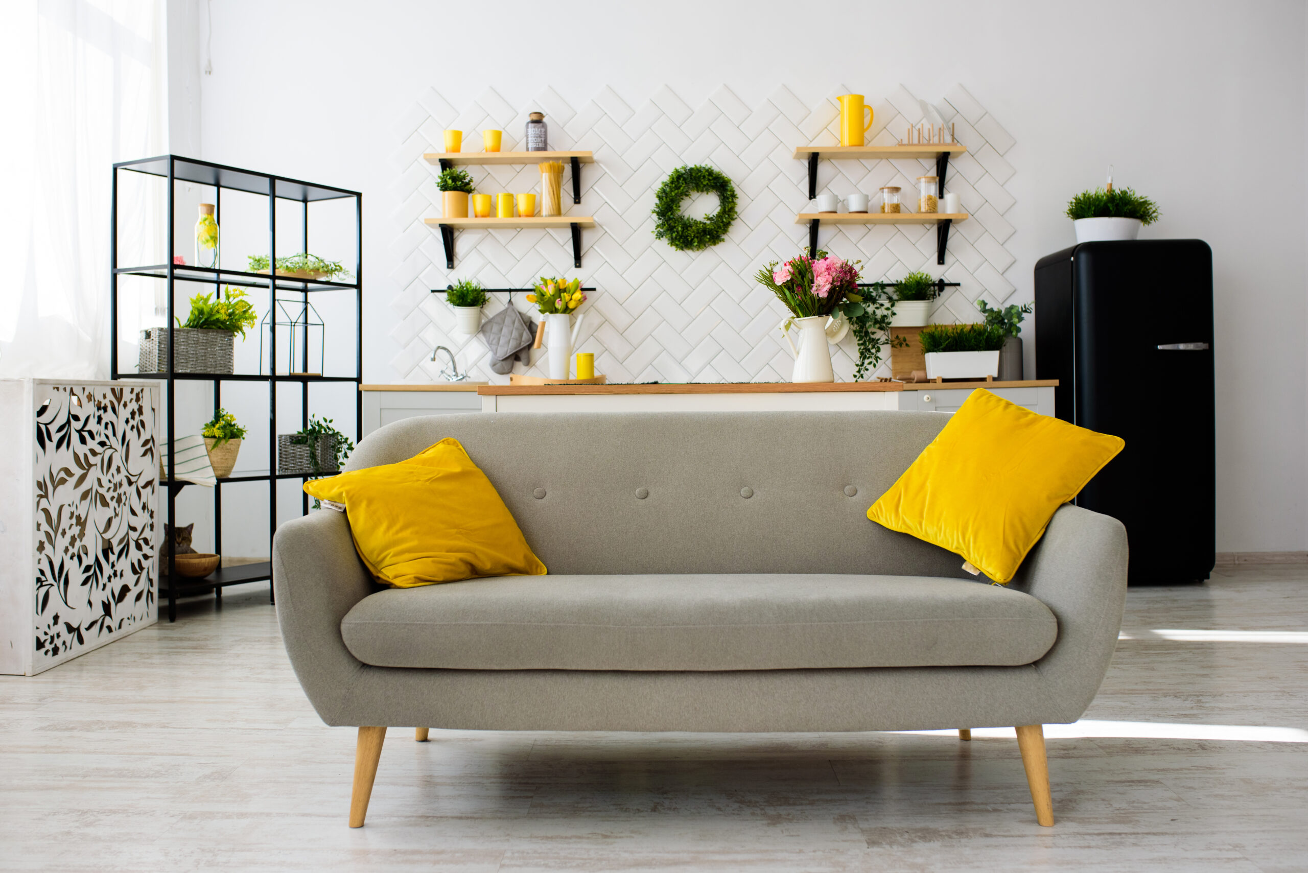
<svg viewBox="0 0 1308 873">
<path fill-rule="evenodd" d="M 370 434 L 347 468 L 456 438 L 552 574 L 969 578 L 957 555 L 866 515 L 947 421 L 931 412 L 429 416 Z"/>
</svg>

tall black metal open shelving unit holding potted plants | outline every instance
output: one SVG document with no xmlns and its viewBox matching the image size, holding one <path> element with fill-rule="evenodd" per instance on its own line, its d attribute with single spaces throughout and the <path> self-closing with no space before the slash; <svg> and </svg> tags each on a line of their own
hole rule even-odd
<svg viewBox="0 0 1308 873">
<path fill-rule="evenodd" d="M 144 173 L 148 175 L 161 176 L 167 180 L 167 208 L 166 208 L 166 221 L 167 221 L 167 254 L 166 263 L 152 264 L 144 267 L 119 267 L 118 264 L 118 180 L 119 173 Z M 354 242 L 356 242 L 356 263 L 354 263 L 354 281 L 353 282 L 332 282 L 332 281 L 306 281 L 297 278 L 288 278 L 284 276 L 276 276 L 275 269 L 269 269 L 268 273 L 251 273 L 247 271 L 237 269 L 222 269 L 221 263 L 218 269 L 205 269 L 191 265 L 174 264 L 173 257 L 177 252 L 175 229 L 177 229 L 177 214 L 175 214 L 175 186 L 178 182 L 190 182 L 201 186 L 209 186 L 215 188 L 215 208 L 218 214 L 218 226 L 221 233 L 221 208 L 222 208 L 222 191 L 242 191 L 246 193 L 262 195 L 268 197 L 268 263 L 271 265 L 276 264 L 277 252 L 277 200 L 292 200 L 303 204 L 303 221 L 301 225 L 301 251 L 309 251 L 309 204 L 318 200 L 339 200 L 345 197 L 353 197 L 354 200 Z M 167 405 L 167 421 L 164 427 L 165 440 L 161 444 L 161 450 L 166 447 L 169 450 L 169 468 L 166 470 L 167 481 L 167 523 L 177 524 L 177 495 L 178 493 L 188 485 L 186 481 L 177 480 L 174 473 L 174 452 L 171 451 L 174 436 L 177 435 L 177 403 L 175 403 L 175 384 L 179 380 L 199 380 L 199 382 L 212 382 L 213 383 L 213 408 L 217 409 L 222 405 L 222 383 L 224 382 L 263 382 L 268 386 L 268 472 L 266 473 L 242 473 L 239 476 L 230 476 L 226 478 L 217 480 L 213 487 L 213 550 L 217 554 L 222 554 L 222 485 L 233 482 L 268 482 L 268 548 L 269 554 L 272 549 L 272 536 L 277 529 L 277 482 L 281 480 L 303 480 L 309 478 L 310 473 L 277 473 L 277 386 L 280 383 L 298 383 L 301 391 L 301 426 L 309 425 L 309 386 L 311 383 L 354 383 L 354 440 L 358 442 L 362 438 L 362 423 L 364 423 L 364 395 L 360 389 L 364 379 L 364 195 L 358 191 L 349 191 L 345 188 L 336 188 L 332 186 L 314 184 L 309 182 L 300 182 L 298 179 L 288 179 L 285 176 L 273 175 L 269 173 L 256 173 L 254 170 L 241 170 L 238 167 L 222 166 L 220 163 L 211 163 L 208 161 L 199 161 L 195 158 L 183 158 L 175 154 L 164 154 L 153 158 L 141 158 L 139 161 L 123 161 L 114 165 L 114 182 L 112 182 L 112 212 L 110 216 L 110 378 L 135 378 L 135 379 L 161 379 L 166 383 L 165 403 Z M 220 243 L 221 252 L 221 243 Z M 169 354 L 166 372 L 122 372 L 119 370 L 118 361 L 118 280 L 119 276 L 145 276 L 157 278 L 167 284 L 167 324 L 171 327 L 177 325 L 177 314 L 174 312 L 175 305 L 175 290 L 179 282 L 187 284 L 200 284 L 212 285 L 215 289 L 215 295 L 221 297 L 224 285 L 234 285 L 238 288 L 259 288 L 268 290 L 268 310 L 275 308 L 276 301 L 279 299 L 279 293 L 298 294 L 300 301 L 307 307 L 309 295 L 315 291 L 340 291 L 340 290 L 353 290 L 354 291 L 354 375 L 353 376 L 327 376 L 327 375 L 311 375 L 302 372 L 277 372 L 277 325 L 276 319 L 269 319 L 273 324 L 269 327 L 268 335 L 268 371 L 259 374 L 215 374 L 215 372 L 174 372 L 173 367 L 175 365 L 174 355 L 174 337 L 175 333 L 169 331 Z M 297 301 L 298 302 L 298 301 Z M 258 329 L 263 329 L 262 325 Z M 263 337 L 259 337 L 263 341 Z M 309 359 L 309 332 L 303 332 L 303 361 L 307 365 Z M 306 367 L 307 369 L 307 367 Z M 309 510 L 309 497 L 301 495 L 301 511 L 307 512 Z M 164 567 L 161 566 L 161 571 Z M 268 582 L 268 599 L 272 602 L 272 562 L 263 561 L 258 563 L 249 563 L 241 566 L 220 567 L 215 572 L 204 576 L 203 579 L 182 579 L 177 575 L 177 563 L 174 557 L 170 554 L 167 558 L 166 572 L 160 574 L 160 599 L 162 601 L 164 596 L 167 596 L 167 613 L 169 621 L 177 619 L 177 599 L 187 593 L 200 592 L 213 589 L 215 597 L 221 601 L 222 588 L 225 585 L 238 585 L 250 582 Z M 166 585 L 166 588 L 164 588 Z"/>
</svg>

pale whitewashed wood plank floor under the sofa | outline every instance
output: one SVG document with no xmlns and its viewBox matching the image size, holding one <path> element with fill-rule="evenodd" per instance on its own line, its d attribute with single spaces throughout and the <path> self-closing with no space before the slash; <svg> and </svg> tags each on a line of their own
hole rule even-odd
<svg viewBox="0 0 1308 873">
<path fill-rule="evenodd" d="M 1130 639 L 1087 721 L 1049 729 L 1052 830 L 1011 732 L 416 744 L 411 729 L 391 731 L 368 826 L 349 830 L 354 731 L 322 725 L 267 588 L 242 591 L 221 613 L 190 602 L 175 625 L 0 677 L 0 869 L 1308 868 L 1304 566 L 1130 592 Z"/>
</svg>

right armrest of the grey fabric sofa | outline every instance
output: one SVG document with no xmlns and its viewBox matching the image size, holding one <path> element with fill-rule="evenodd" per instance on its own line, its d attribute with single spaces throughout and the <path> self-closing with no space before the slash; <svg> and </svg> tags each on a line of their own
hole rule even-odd
<svg viewBox="0 0 1308 873">
<path fill-rule="evenodd" d="M 1058 619 L 1058 639 L 1036 661 L 1057 721 L 1079 719 L 1108 673 L 1126 605 L 1126 554 L 1121 521 L 1069 503 L 1014 578 Z"/>
</svg>

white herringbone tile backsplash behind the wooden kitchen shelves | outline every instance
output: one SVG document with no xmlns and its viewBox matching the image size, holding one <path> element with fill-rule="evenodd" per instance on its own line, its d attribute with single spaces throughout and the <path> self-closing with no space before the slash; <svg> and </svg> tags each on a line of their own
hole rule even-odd
<svg viewBox="0 0 1308 873">
<path fill-rule="evenodd" d="M 443 289 L 456 278 L 477 278 L 488 288 L 528 288 L 540 276 L 581 276 L 596 290 L 582 310 L 587 316 L 577 350 L 594 352 L 596 371 L 611 382 L 787 380 L 791 354 L 777 329 L 785 310 L 753 274 L 808 244 L 807 226 L 795 223 L 795 213 L 814 210 L 806 196 L 808 171 L 794 158 L 794 149 L 838 141 L 835 95 L 840 93 L 846 89 L 810 106 L 778 88 L 749 107 L 723 85 L 692 108 L 663 86 L 633 108 L 604 88 L 574 108 L 549 88 L 521 107 L 488 89 L 459 110 L 429 90 L 400 123 L 402 145 L 394 157 L 403 205 L 392 216 L 398 267 L 391 274 L 403 290 L 392 301 L 399 321 L 391 337 L 399 350 L 391 366 L 407 380 L 432 380 L 439 365 L 428 359 L 433 348 L 445 345 L 473 378 L 506 382 L 508 376 L 490 372 L 480 337 L 454 332 L 454 312 L 443 295 L 429 289 Z M 869 95 L 869 102 L 875 110 L 867 135 L 874 145 L 893 145 L 896 136 L 923 116 L 922 103 L 904 86 L 887 97 Z M 1003 157 L 1014 140 L 961 85 L 935 108 L 968 146 L 967 154 L 950 161 L 944 189 L 960 195 L 972 218 L 954 225 L 946 263 L 935 263 L 937 234 L 929 225 L 823 226 L 819 246 L 862 260 L 865 281 L 891 281 L 921 269 L 960 282 L 938 301 L 935 320 L 974 321 L 980 315 L 972 301 L 984 297 L 997 305 L 1015 290 L 1005 278 L 1014 263 L 1005 248 L 1014 227 L 1003 218 L 1014 204 L 1005 189 L 1014 167 Z M 434 183 L 439 169 L 426 163 L 422 153 L 441 150 L 446 128 L 462 129 L 470 150 L 480 149 L 484 128 L 504 129 L 505 150 L 523 148 L 523 124 L 531 111 L 545 114 L 551 148 L 595 153 L 595 163 L 582 166 L 579 204 L 572 203 L 572 183 L 564 179 L 565 213 L 594 216 L 598 225 L 582 230 L 582 268 L 573 267 L 570 231 L 536 229 L 455 231 L 454 269 L 446 269 L 439 234 L 422 223 L 441 214 Z M 679 252 L 655 240 L 650 214 L 663 178 L 691 163 L 723 171 L 739 195 L 731 233 L 702 252 Z M 933 161 L 821 161 L 818 188 L 844 197 L 899 184 L 905 209 L 914 209 L 916 178 L 934 169 Z M 484 193 L 539 191 L 535 165 L 467 170 Z M 684 210 L 702 214 L 714 208 L 715 199 L 706 197 L 688 201 Z M 488 316 L 506 305 L 506 295 L 493 298 Z M 514 305 L 531 308 L 521 295 Z M 853 337 L 832 357 L 837 379 L 852 379 L 858 358 Z M 527 372 L 545 375 L 543 361 L 536 352 Z M 883 365 L 879 374 L 888 372 Z"/>
</svg>

